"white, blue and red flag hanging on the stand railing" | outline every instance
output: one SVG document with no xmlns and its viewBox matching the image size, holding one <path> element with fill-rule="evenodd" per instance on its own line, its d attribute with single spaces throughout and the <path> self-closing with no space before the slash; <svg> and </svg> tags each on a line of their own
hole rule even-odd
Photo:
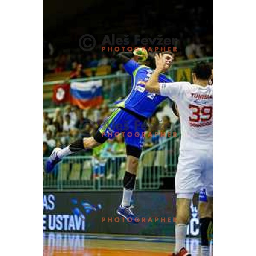
<svg viewBox="0 0 256 256">
<path fill-rule="evenodd" d="M 103 102 L 102 80 L 72 82 L 70 96 L 71 103 L 81 109 L 98 106 Z"/>
</svg>

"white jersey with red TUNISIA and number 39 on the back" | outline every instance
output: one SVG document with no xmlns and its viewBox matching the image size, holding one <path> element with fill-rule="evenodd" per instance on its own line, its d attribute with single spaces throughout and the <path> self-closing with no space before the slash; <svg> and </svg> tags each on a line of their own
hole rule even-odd
<svg viewBox="0 0 256 256">
<path fill-rule="evenodd" d="M 189 82 L 160 83 L 160 94 L 178 108 L 180 150 L 213 148 L 213 86 Z"/>
</svg>

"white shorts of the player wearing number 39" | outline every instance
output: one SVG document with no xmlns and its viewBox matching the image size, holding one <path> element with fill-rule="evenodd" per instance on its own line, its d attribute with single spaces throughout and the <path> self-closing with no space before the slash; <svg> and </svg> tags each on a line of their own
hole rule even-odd
<svg viewBox="0 0 256 256">
<path fill-rule="evenodd" d="M 176 194 L 194 194 L 205 188 L 213 196 L 213 148 L 180 151 L 175 176 Z"/>
</svg>

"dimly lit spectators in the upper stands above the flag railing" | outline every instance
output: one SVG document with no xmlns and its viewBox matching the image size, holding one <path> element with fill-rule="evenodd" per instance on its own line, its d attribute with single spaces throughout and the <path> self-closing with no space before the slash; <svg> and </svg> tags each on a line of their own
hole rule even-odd
<svg viewBox="0 0 256 256">
<path fill-rule="evenodd" d="M 212 56 L 212 46 L 207 45 L 199 37 L 187 38 L 184 42 L 177 42 L 175 61 Z M 180 48 L 180 50 L 179 50 Z M 123 69 L 116 62 L 111 52 L 83 52 L 81 49 L 66 49 L 55 56 L 51 56 L 44 64 L 44 74 L 70 71 L 70 79 L 87 77 L 84 69 L 110 66 L 111 73 L 122 73 Z"/>
</svg>

